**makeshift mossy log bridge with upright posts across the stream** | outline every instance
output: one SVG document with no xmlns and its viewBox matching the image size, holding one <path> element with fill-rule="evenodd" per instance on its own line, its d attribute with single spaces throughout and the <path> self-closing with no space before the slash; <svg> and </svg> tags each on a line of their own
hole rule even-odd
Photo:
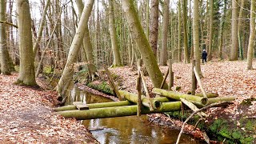
<svg viewBox="0 0 256 144">
<path fill-rule="evenodd" d="M 171 69 L 171 60 L 168 61 L 169 70 L 167 70 L 162 85 L 160 88 L 154 88 L 153 94 L 156 94 L 155 98 L 150 98 L 149 91 L 146 87 L 144 74 L 141 70 L 142 62 L 138 61 L 138 79 L 137 90 L 138 94 L 133 94 L 125 90 L 118 90 L 114 85 L 114 80 L 111 78 L 110 71 L 104 67 L 106 74 L 109 78 L 109 84 L 114 91 L 115 95 L 119 98 L 119 102 L 102 102 L 84 104 L 83 102 L 73 102 L 73 105 L 62 106 L 55 108 L 55 114 L 61 114 L 65 118 L 76 118 L 78 120 L 94 119 L 94 118 L 113 118 L 130 115 L 141 114 L 153 114 L 170 112 L 174 110 L 182 110 L 186 105 L 191 110 L 198 110 L 203 106 L 207 106 L 216 102 L 230 102 L 234 101 L 235 97 L 218 97 L 218 94 L 208 93 L 203 90 L 202 83 L 200 81 L 197 71 L 194 69 L 194 62 L 192 62 L 192 94 L 182 94 L 171 91 L 171 86 L 174 86 L 174 73 Z M 166 83 L 166 78 L 169 76 L 170 82 L 168 90 L 162 89 Z M 202 91 L 202 94 L 194 94 L 197 84 Z M 142 95 L 142 86 L 146 96 Z M 200 117 L 206 116 L 206 114 L 198 113 Z"/>
</svg>

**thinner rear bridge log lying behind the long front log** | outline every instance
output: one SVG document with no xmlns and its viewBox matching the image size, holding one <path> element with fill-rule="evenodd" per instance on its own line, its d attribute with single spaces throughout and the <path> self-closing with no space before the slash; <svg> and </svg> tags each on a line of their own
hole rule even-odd
<svg viewBox="0 0 256 144">
<path fill-rule="evenodd" d="M 120 101 L 120 102 L 102 102 L 102 103 L 90 103 L 86 104 L 89 109 L 103 108 L 103 107 L 114 107 L 114 106 L 129 106 L 132 105 L 132 102 L 129 101 Z M 54 108 L 54 111 L 65 111 L 65 110 L 78 110 L 74 105 L 61 106 Z"/>
</svg>

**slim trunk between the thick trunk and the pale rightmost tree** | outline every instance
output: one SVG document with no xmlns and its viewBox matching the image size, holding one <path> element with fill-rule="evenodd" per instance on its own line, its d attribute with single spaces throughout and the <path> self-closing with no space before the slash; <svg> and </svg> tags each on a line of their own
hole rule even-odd
<svg viewBox="0 0 256 144">
<path fill-rule="evenodd" d="M 243 59 L 241 26 L 242 26 L 242 12 L 244 10 L 244 6 L 245 6 L 245 0 L 241 0 L 239 16 L 238 16 L 238 46 L 239 46 L 239 56 L 241 59 Z"/>
</svg>

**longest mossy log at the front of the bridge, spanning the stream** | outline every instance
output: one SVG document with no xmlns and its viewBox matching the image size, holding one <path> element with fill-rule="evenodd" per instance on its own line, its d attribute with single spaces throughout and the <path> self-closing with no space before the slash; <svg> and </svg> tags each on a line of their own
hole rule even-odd
<svg viewBox="0 0 256 144">
<path fill-rule="evenodd" d="M 163 102 L 158 110 L 150 111 L 147 107 L 142 107 L 142 114 L 162 113 L 174 110 L 181 110 L 182 102 Z M 105 107 L 90 110 L 66 110 L 59 111 L 54 114 L 61 114 L 65 118 L 76 118 L 78 120 L 94 119 L 94 118 L 113 118 L 130 116 L 137 114 L 137 106 L 117 106 Z"/>
</svg>

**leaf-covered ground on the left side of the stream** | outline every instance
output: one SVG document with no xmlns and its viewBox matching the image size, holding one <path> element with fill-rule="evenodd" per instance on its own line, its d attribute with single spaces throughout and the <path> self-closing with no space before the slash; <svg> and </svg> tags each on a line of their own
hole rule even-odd
<svg viewBox="0 0 256 144">
<path fill-rule="evenodd" d="M 14 85 L 17 78 L 0 75 L 0 143 L 98 143 L 75 119 L 52 113 L 55 92 Z"/>
</svg>

